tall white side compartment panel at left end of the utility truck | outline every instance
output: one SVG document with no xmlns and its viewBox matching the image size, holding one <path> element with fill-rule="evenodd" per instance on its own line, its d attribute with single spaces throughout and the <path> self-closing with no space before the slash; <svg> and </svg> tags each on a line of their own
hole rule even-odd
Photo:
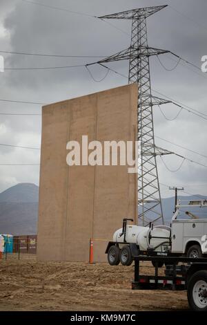
<svg viewBox="0 0 207 325">
<path fill-rule="evenodd" d="M 172 252 L 183 252 L 184 223 L 172 221 Z"/>
</svg>

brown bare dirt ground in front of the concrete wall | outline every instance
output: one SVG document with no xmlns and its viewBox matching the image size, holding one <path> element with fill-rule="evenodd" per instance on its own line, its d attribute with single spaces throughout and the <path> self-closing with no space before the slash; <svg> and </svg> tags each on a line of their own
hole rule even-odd
<svg viewBox="0 0 207 325">
<path fill-rule="evenodd" d="M 188 310 L 186 291 L 131 290 L 133 266 L 0 260 L 0 310 Z M 152 273 L 149 263 L 141 272 Z"/>
</svg>

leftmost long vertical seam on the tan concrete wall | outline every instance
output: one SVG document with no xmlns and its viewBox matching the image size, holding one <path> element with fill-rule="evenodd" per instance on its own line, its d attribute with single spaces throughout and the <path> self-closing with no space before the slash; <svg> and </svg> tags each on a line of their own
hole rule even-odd
<svg viewBox="0 0 207 325">
<path fill-rule="evenodd" d="M 69 107 L 68 107 L 69 106 Z M 71 109 L 70 109 L 70 104 L 68 102 L 67 104 L 67 124 L 68 124 L 68 128 L 67 128 L 67 138 L 66 138 L 66 144 L 68 142 L 68 140 L 70 140 L 70 124 L 71 124 Z M 67 151 L 66 151 L 67 154 Z M 67 168 L 67 173 L 66 173 L 66 224 L 65 224 L 65 238 L 64 238 L 64 257 L 66 258 L 66 239 L 67 239 L 67 234 L 68 234 L 68 185 L 69 185 L 69 174 L 70 174 L 70 167 L 67 165 L 66 163 L 66 168 Z"/>
</svg>

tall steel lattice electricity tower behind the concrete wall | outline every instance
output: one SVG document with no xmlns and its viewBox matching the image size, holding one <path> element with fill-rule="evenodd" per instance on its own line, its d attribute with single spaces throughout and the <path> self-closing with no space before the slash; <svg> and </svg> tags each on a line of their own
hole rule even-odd
<svg viewBox="0 0 207 325">
<path fill-rule="evenodd" d="M 141 219 L 143 225 L 148 225 L 150 221 L 155 222 L 159 219 L 164 223 L 156 156 L 172 154 L 155 146 L 152 106 L 166 104 L 170 101 L 159 97 L 152 97 L 149 64 L 150 56 L 169 53 L 169 51 L 148 46 L 146 24 L 148 17 L 165 7 L 138 8 L 99 17 L 99 19 L 132 20 L 130 47 L 106 59 L 102 59 L 98 63 L 103 64 L 103 62 L 129 59 L 128 82 L 137 82 L 139 87 L 137 109 L 137 140 L 139 143 L 138 219 Z"/>
</svg>

